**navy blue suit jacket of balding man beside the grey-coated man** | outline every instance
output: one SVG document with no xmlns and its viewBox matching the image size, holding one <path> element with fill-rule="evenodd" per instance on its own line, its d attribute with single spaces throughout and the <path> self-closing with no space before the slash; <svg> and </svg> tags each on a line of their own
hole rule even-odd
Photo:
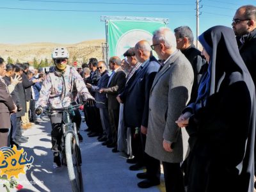
<svg viewBox="0 0 256 192">
<path fill-rule="evenodd" d="M 124 99 L 124 120 L 127 127 L 148 126 L 148 101 L 150 89 L 153 84 L 159 63 L 150 57 L 146 63 L 143 63 L 136 72 L 129 88 L 125 93 Z"/>
</svg>

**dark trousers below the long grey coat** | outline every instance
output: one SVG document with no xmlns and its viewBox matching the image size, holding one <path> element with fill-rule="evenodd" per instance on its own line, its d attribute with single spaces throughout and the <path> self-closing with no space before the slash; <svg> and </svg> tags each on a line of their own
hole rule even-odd
<svg viewBox="0 0 256 192">
<path fill-rule="evenodd" d="M 184 178 L 180 163 L 162 163 L 166 192 L 184 192 Z"/>
</svg>

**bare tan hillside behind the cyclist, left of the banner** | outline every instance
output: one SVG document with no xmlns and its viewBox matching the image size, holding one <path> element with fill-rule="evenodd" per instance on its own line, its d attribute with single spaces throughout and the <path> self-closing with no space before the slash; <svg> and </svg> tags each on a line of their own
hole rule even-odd
<svg viewBox="0 0 256 192">
<path fill-rule="evenodd" d="M 88 61 L 89 58 L 97 58 L 102 60 L 102 48 L 101 44 L 105 40 L 90 40 L 77 44 L 52 44 L 52 43 L 33 43 L 33 44 L 21 44 L 21 45 L 8 45 L 0 44 L 0 56 L 6 60 L 8 57 L 12 60 L 20 62 L 33 63 L 34 58 L 40 62 L 40 60 L 51 61 L 51 52 L 54 47 L 67 47 L 70 52 L 70 61 L 76 58 L 78 65 L 81 65 L 83 61 Z"/>
</svg>

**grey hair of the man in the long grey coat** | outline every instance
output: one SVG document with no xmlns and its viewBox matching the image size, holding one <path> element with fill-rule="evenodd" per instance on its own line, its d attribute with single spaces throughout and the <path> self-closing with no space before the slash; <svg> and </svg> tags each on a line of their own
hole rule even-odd
<svg viewBox="0 0 256 192">
<path fill-rule="evenodd" d="M 153 39 L 157 42 L 162 42 L 168 49 L 176 49 L 176 38 L 169 28 L 160 28 L 154 31 Z"/>
</svg>

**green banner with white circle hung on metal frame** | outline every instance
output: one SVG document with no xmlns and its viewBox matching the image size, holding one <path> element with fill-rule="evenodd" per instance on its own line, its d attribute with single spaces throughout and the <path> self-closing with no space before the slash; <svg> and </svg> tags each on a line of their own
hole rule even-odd
<svg viewBox="0 0 256 192">
<path fill-rule="evenodd" d="M 162 27 L 166 27 L 164 22 L 109 20 L 109 57 L 124 58 L 124 52 L 140 40 L 147 40 L 152 44 L 152 34 Z"/>
</svg>

